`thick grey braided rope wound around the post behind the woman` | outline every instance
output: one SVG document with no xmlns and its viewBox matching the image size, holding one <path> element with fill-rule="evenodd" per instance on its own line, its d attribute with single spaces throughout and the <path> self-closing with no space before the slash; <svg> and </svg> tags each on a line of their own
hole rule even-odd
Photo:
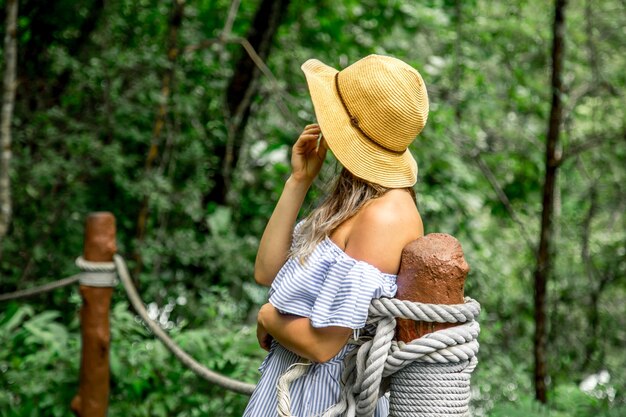
<svg viewBox="0 0 626 417">
<path fill-rule="evenodd" d="M 479 333 L 478 323 L 474 321 L 475 317 L 480 313 L 480 305 L 470 299 L 465 299 L 462 305 L 432 305 L 423 303 L 412 303 L 408 301 L 396 299 L 379 299 L 374 300 L 370 307 L 370 321 L 377 323 L 376 334 L 372 343 L 363 344 L 356 355 L 357 358 L 357 376 L 353 387 L 346 387 L 344 391 L 348 394 L 352 391 L 352 395 L 356 397 L 356 407 L 354 414 L 344 414 L 345 416 L 369 417 L 373 415 L 376 409 L 376 403 L 379 397 L 379 386 L 381 376 L 392 376 L 392 387 L 398 386 L 394 381 L 401 381 L 404 385 L 411 386 L 415 378 L 411 378 L 415 374 L 425 378 L 427 386 L 437 386 L 437 380 L 447 378 L 454 384 L 463 386 L 465 379 L 466 389 L 469 392 L 469 374 L 468 373 L 450 373 L 444 369 L 448 364 L 458 364 L 461 369 L 465 369 L 469 365 L 469 360 L 474 358 L 478 351 L 478 342 L 476 340 Z M 402 317 L 412 320 L 420 320 L 427 322 L 450 322 L 464 323 L 463 325 L 453 328 L 443 329 L 434 333 L 429 333 L 421 338 L 415 339 L 410 343 L 396 343 L 390 340 L 395 333 L 395 319 L 389 320 L 389 316 Z M 378 340 L 384 340 L 385 343 L 377 343 Z M 359 357 L 365 356 L 366 366 L 359 365 Z M 384 370 L 370 367 L 372 364 L 377 366 L 384 358 Z M 430 367 L 433 372 L 409 372 L 408 377 L 404 377 L 402 371 L 407 365 L 411 368 L 422 369 L 424 364 L 433 364 Z M 428 365 L 426 365 L 428 366 Z M 472 367 L 473 369 L 473 367 Z M 360 373 L 360 375 L 359 375 Z M 394 374 L 398 374 L 397 376 Z M 416 387 L 409 398 L 405 395 L 394 396 L 391 410 L 393 417 L 416 416 L 422 411 L 428 411 L 426 403 L 436 406 L 439 416 L 462 415 L 466 412 L 469 404 L 469 397 L 464 403 L 459 404 L 454 395 L 448 396 L 447 393 L 440 395 L 443 401 L 433 402 L 432 398 L 424 400 L 422 392 Z M 417 397 L 417 398 L 415 398 Z M 420 400 L 421 398 L 421 400 Z M 391 400 L 391 398 L 390 398 Z M 421 401 L 421 402 L 420 402 Z M 398 407 L 394 405 L 400 404 Z M 407 406 L 408 403 L 408 406 Z M 447 413 L 446 408 L 452 407 L 455 412 Z M 408 410 L 408 411 L 407 411 Z M 332 413 L 328 413 L 329 416 Z"/>
</svg>

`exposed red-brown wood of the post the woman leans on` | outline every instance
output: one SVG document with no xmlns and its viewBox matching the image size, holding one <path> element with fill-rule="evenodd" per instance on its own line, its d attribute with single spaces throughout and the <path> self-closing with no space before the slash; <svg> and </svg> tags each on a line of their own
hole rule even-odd
<svg viewBox="0 0 626 417">
<path fill-rule="evenodd" d="M 428 234 L 402 251 L 396 298 L 428 304 L 462 304 L 468 272 L 458 240 L 444 233 Z M 396 339 L 408 343 L 456 325 L 398 319 Z"/>
</svg>

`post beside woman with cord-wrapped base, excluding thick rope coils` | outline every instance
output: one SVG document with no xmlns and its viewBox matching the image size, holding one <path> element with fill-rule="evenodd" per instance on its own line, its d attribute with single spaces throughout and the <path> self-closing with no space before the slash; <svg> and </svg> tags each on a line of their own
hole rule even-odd
<svg viewBox="0 0 626 417">
<path fill-rule="evenodd" d="M 426 235 L 411 242 L 402 253 L 396 298 L 426 304 L 463 304 L 468 272 L 455 238 L 442 233 Z M 398 319 L 396 339 L 408 343 L 457 325 Z M 468 415 L 472 369 L 469 361 L 411 363 L 391 376 L 389 415 Z"/>
</svg>

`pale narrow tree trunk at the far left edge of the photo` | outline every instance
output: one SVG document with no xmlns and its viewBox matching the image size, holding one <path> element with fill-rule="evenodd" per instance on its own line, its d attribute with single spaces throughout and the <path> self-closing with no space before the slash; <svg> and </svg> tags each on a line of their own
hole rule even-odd
<svg viewBox="0 0 626 417">
<path fill-rule="evenodd" d="M 0 240 L 11 222 L 11 122 L 15 103 L 15 62 L 17 60 L 17 0 L 7 0 L 4 34 L 4 77 L 2 120 L 0 121 Z M 0 251 L 1 257 L 1 251 Z"/>
</svg>

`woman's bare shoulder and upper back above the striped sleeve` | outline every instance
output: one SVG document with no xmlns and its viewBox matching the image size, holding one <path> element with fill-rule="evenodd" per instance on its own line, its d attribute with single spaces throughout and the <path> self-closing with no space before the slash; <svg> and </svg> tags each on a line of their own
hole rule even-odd
<svg viewBox="0 0 626 417">
<path fill-rule="evenodd" d="M 355 217 L 346 253 L 395 274 L 402 249 L 424 234 L 422 219 L 406 190 L 391 190 L 369 202 Z"/>
</svg>

